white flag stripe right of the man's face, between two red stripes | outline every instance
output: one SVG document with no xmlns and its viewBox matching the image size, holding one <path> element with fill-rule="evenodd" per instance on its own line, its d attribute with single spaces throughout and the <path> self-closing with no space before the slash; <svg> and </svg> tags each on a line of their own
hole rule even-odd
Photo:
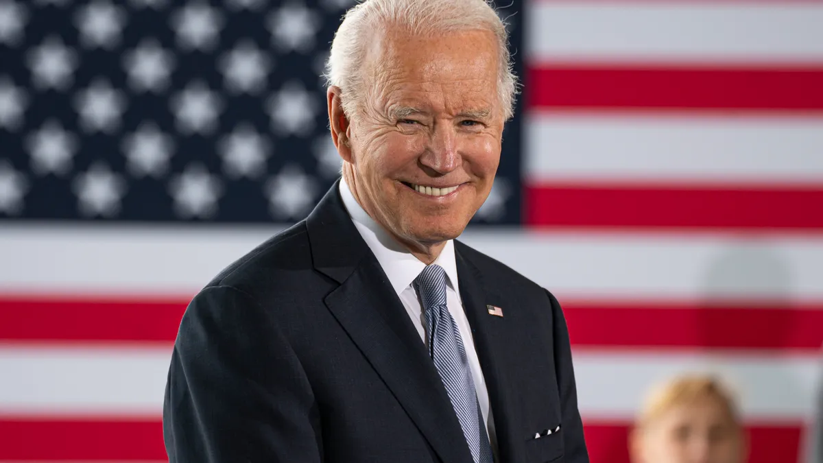
<svg viewBox="0 0 823 463">
<path fill-rule="evenodd" d="M 823 27 L 821 27 L 823 28 Z M 529 116 L 523 173 L 540 180 L 816 182 L 823 118 Z"/>
</svg>

